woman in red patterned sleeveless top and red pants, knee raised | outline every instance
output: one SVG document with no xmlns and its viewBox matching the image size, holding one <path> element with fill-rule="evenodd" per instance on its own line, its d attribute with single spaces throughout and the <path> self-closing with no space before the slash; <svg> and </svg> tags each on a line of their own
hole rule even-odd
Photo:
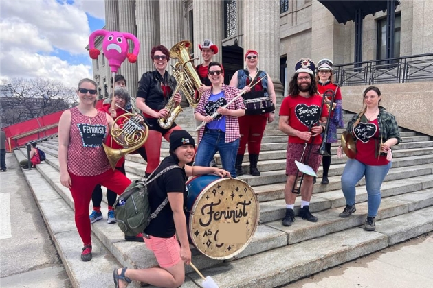
<svg viewBox="0 0 433 288">
<path fill-rule="evenodd" d="M 120 195 L 131 184 L 119 170 L 111 169 L 102 147 L 117 125 L 110 115 L 95 108 L 96 89 L 93 80 L 81 80 L 77 90 L 80 104 L 63 112 L 58 123 L 60 183 L 74 199 L 75 223 L 84 243 L 82 261 L 92 258 L 89 204 L 93 188 L 101 184 Z"/>
</svg>

